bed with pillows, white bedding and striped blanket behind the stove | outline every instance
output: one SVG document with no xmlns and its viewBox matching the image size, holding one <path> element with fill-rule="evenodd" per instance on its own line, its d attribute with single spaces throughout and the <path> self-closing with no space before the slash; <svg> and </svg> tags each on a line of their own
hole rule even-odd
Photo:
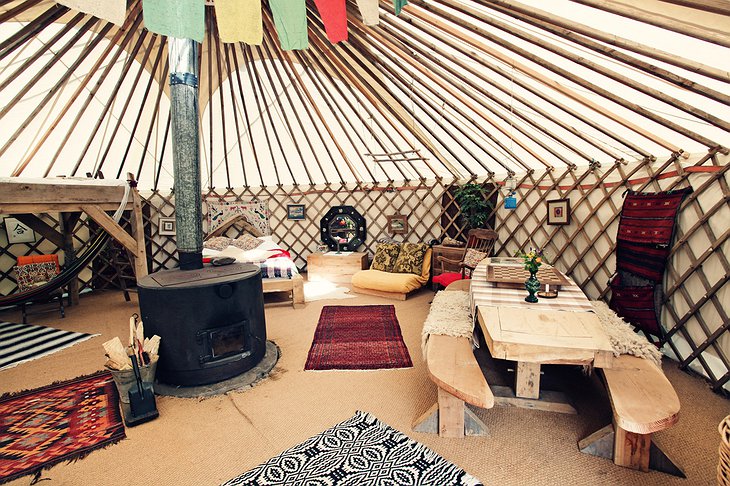
<svg viewBox="0 0 730 486">
<path fill-rule="evenodd" d="M 244 229 L 238 237 L 222 236 L 232 226 Z M 261 268 L 264 293 L 291 292 L 292 304 L 304 304 L 304 279 L 288 251 L 270 235 L 261 235 L 245 219 L 234 218 L 206 237 L 203 258 L 229 257 L 237 262 L 251 263 Z"/>
</svg>

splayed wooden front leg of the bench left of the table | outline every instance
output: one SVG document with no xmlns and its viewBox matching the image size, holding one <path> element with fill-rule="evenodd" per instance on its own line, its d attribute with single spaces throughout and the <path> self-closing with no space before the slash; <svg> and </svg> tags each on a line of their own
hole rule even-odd
<svg viewBox="0 0 730 486">
<path fill-rule="evenodd" d="M 414 431 L 451 438 L 463 438 L 465 435 L 489 435 L 487 426 L 466 406 L 463 400 L 459 400 L 441 388 L 438 389 L 438 392 L 438 403 L 434 403 L 426 413 L 413 422 Z"/>
</svg>

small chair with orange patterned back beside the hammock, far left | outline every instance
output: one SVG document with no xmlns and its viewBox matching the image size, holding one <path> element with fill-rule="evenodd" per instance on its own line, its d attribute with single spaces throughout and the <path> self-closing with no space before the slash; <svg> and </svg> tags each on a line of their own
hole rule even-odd
<svg viewBox="0 0 730 486">
<path fill-rule="evenodd" d="M 18 282 L 18 290 L 27 292 L 31 289 L 46 284 L 53 277 L 61 273 L 61 266 L 58 264 L 58 255 L 33 255 L 18 257 L 18 264 L 13 268 Z M 20 304 L 23 313 L 23 324 L 28 323 L 28 311 L 26 305 L 30 302 L 41 304 L 58 300 L 58 307 L 61 318 L 66 317 L 63 308 L 63 289 L 54 289 L 47 294 L 33 298 L 32 301 Z"/>
</svg>

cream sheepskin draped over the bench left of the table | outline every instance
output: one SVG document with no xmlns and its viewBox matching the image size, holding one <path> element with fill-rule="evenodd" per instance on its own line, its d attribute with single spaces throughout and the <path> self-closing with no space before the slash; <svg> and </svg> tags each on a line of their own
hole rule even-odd
<svg viewBox="0 0 730 486">
<path fill-rule="evenodd" d="M 421 332 L 421 351 L 424 359 L 426 359 L 426 343 L 431 334 L 472 338 L 474 319 L 469 311 L 469 301 L 469 292 L 462 290 L 436 292 Z"/>
</svg>

